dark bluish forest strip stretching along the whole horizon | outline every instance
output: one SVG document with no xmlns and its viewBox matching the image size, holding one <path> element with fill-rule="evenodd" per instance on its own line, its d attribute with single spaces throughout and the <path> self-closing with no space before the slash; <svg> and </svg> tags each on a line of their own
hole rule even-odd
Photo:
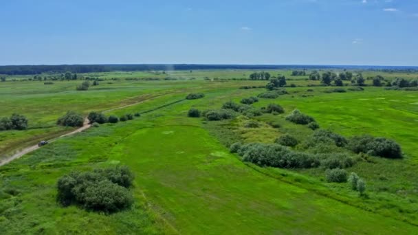
<svg viewBox="0 0 418 235">
<path fill-rule="evenodd" d="M 91 73 L 105 71 L 151 71 L 151 70 L 193 70 L 193 69 L 364 69 L 381 71 L 418 71 L 418 67 L 396 66 L 351 66 L 351 65 L 5 65 L 0 74 L 26 75 L 46 72 Z"/>
</svg>

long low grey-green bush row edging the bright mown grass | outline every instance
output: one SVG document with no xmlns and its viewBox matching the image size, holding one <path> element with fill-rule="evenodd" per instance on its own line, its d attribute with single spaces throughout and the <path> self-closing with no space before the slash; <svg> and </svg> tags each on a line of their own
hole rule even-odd
<svg viewBox="0 0 418 235">
<path fill-rule="evenodd" d="M 355 160 L 347 154 L 313 154 L 293 151 L 281 144 L 240 144 L 230 146 L 231 153 L 241 155 L 243 161 L 258 166 L 278 168 L 347 168 Z"/>
</svg>

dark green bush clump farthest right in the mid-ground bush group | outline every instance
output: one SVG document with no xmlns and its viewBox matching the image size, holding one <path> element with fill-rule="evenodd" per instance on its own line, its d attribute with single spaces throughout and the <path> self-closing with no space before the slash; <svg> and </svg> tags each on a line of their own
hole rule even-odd
<svg viewBox="0 0 418 235">
<path fill-rule="evenodd" d="M 369 155 L 386 158 L 401 158 L 401 146 L 391 139 L 361 135 L 352 137 L 348 148 L 354 153 L 367 153 Z"/>
</svg>

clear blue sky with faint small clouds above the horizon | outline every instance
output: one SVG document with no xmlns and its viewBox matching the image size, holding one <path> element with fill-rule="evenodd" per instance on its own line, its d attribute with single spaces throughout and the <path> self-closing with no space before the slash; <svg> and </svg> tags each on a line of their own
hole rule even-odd
<svg viewBox="0 0 418 235">
<path fill-rule="evenodd" d="M 418 65 L 418 1 L 1 0 L 0 65 Z"/>
</svg>

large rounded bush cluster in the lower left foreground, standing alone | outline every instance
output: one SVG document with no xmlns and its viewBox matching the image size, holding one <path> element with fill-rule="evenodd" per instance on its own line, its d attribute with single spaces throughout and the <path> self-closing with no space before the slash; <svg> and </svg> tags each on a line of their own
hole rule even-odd
<svg viewBox="0 0 418 235">
<path fill-rule="evenodd" d="M 126 166 L 71 172 L 58 179 L 57 201 L 65 206 L 79 205 L 87 210 L 117 212 L 133 203 L 129 192 L 133 179 L 133 173 Z"/>
</svg>

